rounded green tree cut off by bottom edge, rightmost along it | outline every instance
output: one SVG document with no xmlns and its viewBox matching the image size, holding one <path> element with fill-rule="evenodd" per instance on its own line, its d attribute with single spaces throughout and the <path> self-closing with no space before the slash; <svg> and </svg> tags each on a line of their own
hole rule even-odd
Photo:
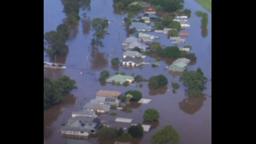
<svg viewBox="0 0 256 144">
<path fill-rule="evenodd" d="M 172 125 L 166 125 L 161 131 L 151 137 L 151 143 L 172 143 L 177 144 L 180 140 L 179 134 L 175 131 Z"/>
</svg>

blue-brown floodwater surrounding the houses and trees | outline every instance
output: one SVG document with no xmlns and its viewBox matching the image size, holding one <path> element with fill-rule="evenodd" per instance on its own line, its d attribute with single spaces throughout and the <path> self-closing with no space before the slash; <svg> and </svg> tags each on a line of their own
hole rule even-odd
<svg viewBox="0 0 256 144">
<path fill-rule="evenodd" d="M 52 106 L 44 111 L 44 143 L 58 144 L 65 143 L 66 138 L 62 138 L 58 130 L 61 124 L 71 117 L 72 111 L 81 110 L 86 102 L 95 97 L 95 93 L 99 90 L 116 90 L 126 92 L 128 90 L 139 90 L 143 94 L 143 98 L 152 99 L 148 104 L 132 103 L 132 113 L 126 113 L 121 110 L 115 111 L 117 116 L 100 115 L 99 118 L 109 121 L 109 125 L 129 127 L 129 124 L 113 123 L 116 117 L 133 118 L 132 123 L 143 123 L 143 112 L 148 108 L 155 108 L 160 113 L 158 123 L 152 124 L 151 130 L 145 132 L 142 139 L 132 141 L 133 143 L 150 143 L 150 138 L 157 131 L 161 130 L 165 125 L 173 125 L 180 134 L 180 143 L 186 144 L 208 144 L 211 143 L 211 82 L 206 84 L 207 89 L 204 93 L 208 96 L 201 98 L 188 98 L 185 92 L 185 86 L 180 83 L 177 93 L 173 94 L 171 82 L 179 82 L 180 74 L 172 74 L 166 66 L 170 61 L 161 61 L 161 66 L 152 68 L 151 65 L 143 66 L 141 69 L 127 69 L 123 67 L 112 68 L 110 60 L 119 57 L 122 58 L 122 42 L 126 38 L 125 27 L 122 24 L 127 14 L 116 14 L 113 10 L 113 1 L 94 0 L 91 1 L 91 10 L 86 12 L 86 18 L 79 22 L 74 37 L 71 38 L 67 45 L 69 53 L 61 57 L 57 57 L 58 63 L 65 63 L 67 69 L 54 70 L 44 69 L 44 76 L 50 78 L 58 78 L 67 75 L 77 82 L 78 89 L 71 91 L 73 95 L 64 97 L 59 105 Z M 188 19 L 191 26 L 182 32 L 189 33 L 186 37 L 186 44 L 192 45 L 191 52 L 196 53 L 197 62 L 189 65 L 189 70 L 196 70 L 200 67 L 204 75 L 211 79 L 211 13 L 207 12 L 196 1 L 185 1 L 185 9 L 192 11 L 191 18 Z M 57 26 L 65 19 L 62 12 L 63 5 L 61 0 L 44 0 L 44 33 L 50 30 L 56 30 Z M 195 15 L 197 10 L 208 13 L 209 26 L 207 36 L 202 37 L 201 18 Z M 84 11 L 81 11 L 81 18 Z M 110 35 L 107 35 L 102 41 L 105 47 L 99 47 L 98 51 L 90 49 L 90 43 L 94 31 L 90 30 L 90 21 L 94 18 L 106 18 L 110 21 L 107 29 Z M 150 32 L 159 39 L 162 45 L 171 46 L 172 43 L 167 39 L 166 35 Z M 44 61 L 49 61 L 45 57 Z M 146 62 L 154 62 L 155 59 L 147 57 Z M 168 64 L 168 65 L 167 65 Z M 151 76 L 163 74 L 169 80 L 169 85 L 162 89 L 150 91 L 145 82 L 143 86 L 135 83 L 127 87 L 106 84 L 102 86 L 97 80 L 102 70 L 109 70 L 111 75 L 124 71 L 127 75 L 142 75 L 148 79 Z M 80 72 L 83 72 L 81 75 Z M 90 139 L 91 143 L 114 143 L 113 141 L 98 141 L 98 139 Z"/>
</svg>

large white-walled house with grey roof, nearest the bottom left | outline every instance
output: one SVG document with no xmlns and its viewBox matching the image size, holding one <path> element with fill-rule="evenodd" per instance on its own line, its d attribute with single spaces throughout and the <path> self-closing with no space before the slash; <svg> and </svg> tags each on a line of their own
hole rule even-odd
<svg viewBox="0 0 256 144">
<path fill-rule="evenodd" d="M 99 118 L 76 116 L 71 117 L 68 124 L 61 127 L 60 132 L 66 137 L 88 138 L 90 134 L 98 131 L 99 125 Z"/>
</svg>

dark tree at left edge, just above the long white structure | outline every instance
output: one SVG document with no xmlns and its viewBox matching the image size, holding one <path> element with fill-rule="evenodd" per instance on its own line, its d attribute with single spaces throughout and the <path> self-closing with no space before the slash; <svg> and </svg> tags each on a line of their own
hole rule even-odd
<svg viewBox="0 0 256 144">
<path fill-rule="evenodd" d="M 44 35 L 45 47 L 44 51 L 53 59 L 55 55 L 62 55 L 68 53 L 68 46 L 65 44 L 65 39 L 56 31 L 46 32 Z"/>
</svg>

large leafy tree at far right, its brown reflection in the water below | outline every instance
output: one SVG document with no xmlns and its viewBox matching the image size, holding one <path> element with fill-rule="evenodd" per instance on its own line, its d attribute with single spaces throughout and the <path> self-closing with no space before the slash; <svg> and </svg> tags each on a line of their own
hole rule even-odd
<svg viewBox="0 0 256 144">
<path fill-rule="evenodd" d="M 206 89 L 205 84 L 207 83 L 207 78 L 202 75 L 202 71 L 184 71 L 180 77 L 180 81 L 183 85 L 188 87 L 188 95 L 190 97 L 199 97 L 202 95 L 203 90 Z"/>
</svg>

